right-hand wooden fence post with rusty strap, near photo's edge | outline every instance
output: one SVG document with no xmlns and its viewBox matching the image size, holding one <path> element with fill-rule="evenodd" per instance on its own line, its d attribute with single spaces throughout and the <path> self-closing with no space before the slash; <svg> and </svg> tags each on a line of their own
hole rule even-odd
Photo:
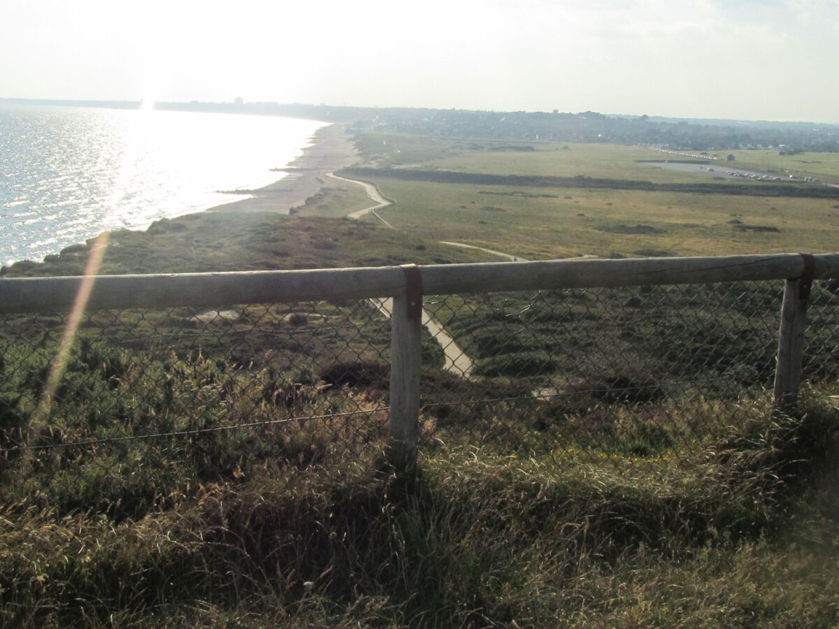
<svg viewBox="0 0 839 629">
<path fill-rule="evenodd" d="M 794 410 L 798 403 L 801 383 L 801 361 L 804 356 L 804 332 L 807 323 L 807 300 L 813 283 L 815 261 L 804 257 L 804 273 L 800 278 L 788 279 L 781 306 L 778 332 L 778 361 L 775 366 L 774 404 L 782 411 Z"/>
</svg>

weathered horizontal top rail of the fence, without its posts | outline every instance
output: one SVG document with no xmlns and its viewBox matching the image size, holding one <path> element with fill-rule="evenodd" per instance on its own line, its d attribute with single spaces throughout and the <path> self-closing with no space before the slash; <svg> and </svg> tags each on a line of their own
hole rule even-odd
<svg viewBox="0 0 839 629">
<path fill-rule="evenodd" d="M 839 254 L 815 256 L 815 278 L 839 277 Z M 420 267 L 425 294 L 578 289 L 800 277 L 797 253 L 763 256 L 445 264 Z M 2 278 L 0 313 L 70 309 L 84 278 Z M 404 292 L 399 267 L 312 271 L 102 275 L 88 309 L 171 308 L 315 299 L 367 299 Z"/>
</svg>

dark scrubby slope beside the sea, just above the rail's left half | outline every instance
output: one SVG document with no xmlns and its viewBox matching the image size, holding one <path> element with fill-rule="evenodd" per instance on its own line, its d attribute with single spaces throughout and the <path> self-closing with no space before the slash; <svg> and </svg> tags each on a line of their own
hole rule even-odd
<svg viewBox="0 0 839 629">
<path fill-rule="evenodd" d="M 44 263 L 6 268 L 9 276 L 81 275 L 91 243 L 67 247 Z M 294 268 L 482 262 L 481 252 L 457 251 L 373 221 L 201 212 L 156 221 L 146 231 L 114 231 L 101 273 L 199 273 Z"/>
</svg>

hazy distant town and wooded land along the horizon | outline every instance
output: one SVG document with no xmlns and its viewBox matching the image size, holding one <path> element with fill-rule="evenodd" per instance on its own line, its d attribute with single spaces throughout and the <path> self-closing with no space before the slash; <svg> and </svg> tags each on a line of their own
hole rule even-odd
<svg viewBox="0 0 839 629">
<path fill-rule="evenodd" d="M 44 101 L 0 98 L 0 104 L 63 105 L 133 109 L 142 101 Z M 380 128 L 441 138 L 498 139 L 520 142 L 649 144 L 672 150 L 775 150 L 839 152 L 839 125 L 818 122 L 692 120 L 621 116 L 599 112 L 482 112 L 407 107 L 335 107 L 300 103 L 155 102 L 154 109 L 304 117 L 350 122 L 357 131 Z M 524 148 L 527 150 L 527 148 Z"/>
</svg>

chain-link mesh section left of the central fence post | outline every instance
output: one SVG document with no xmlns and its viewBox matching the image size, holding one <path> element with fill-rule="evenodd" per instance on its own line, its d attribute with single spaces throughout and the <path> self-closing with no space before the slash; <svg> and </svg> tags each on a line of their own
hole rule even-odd
<svg viewBox="0 0 839 629">
<path fill-rule="evenodd" d="M 0 317 L 7 505 L 137 517 L 383 450 L 389 321 L 367 301 L 95 311 L 75 334 L 71 319 Z"/>
</svg>

